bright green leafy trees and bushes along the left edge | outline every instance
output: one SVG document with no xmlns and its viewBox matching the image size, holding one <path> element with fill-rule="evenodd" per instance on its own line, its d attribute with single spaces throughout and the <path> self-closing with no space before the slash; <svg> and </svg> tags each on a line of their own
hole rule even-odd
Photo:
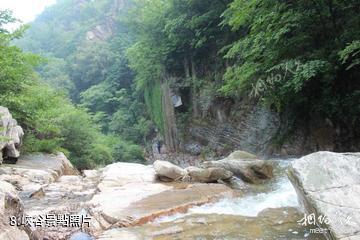
<svg viewBox="0 0 360 240">
<path fill-rule="evenodd" d="M 33 67 L 41 58 L 10 45 L 23 29 L 9 33 L 2 26 L 14 21 L 9 11 L 0 11 L 0 105 L 25 129 L 25 152 L 61 150 L 79 168 L 111 162 L 116 142 L 99 131 L 85 110 L 37 77 Z"/>
</svg>

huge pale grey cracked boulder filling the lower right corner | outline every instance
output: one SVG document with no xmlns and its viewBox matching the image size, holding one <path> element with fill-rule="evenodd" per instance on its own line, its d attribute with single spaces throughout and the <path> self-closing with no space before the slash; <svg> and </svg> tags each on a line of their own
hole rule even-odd
<svg viewBox="0 0 360 240">
<path fill-rule="evenodd" d="M 295 160 L 288 176 L 307 214 L 328 239 L 360 239 L 360 153 L 316 152 Z"/>
</svg>

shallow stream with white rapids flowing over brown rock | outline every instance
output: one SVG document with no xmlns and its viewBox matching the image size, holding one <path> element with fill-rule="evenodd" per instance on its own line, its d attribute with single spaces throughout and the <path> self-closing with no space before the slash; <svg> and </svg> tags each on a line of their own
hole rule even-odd
<svg viewBox="0 0 360 240">
<path fill-rule="evenodd" d="M 322 240 L 298 221 L 303 211 L 286 176 L 291 160 L 277 160 L 275 178 L 226 198 L 191 208 L 186 214 L 162 217 L 138 230 L 154 239 L 309 239 Z M 232 186 L 244 192 L 240 180 Z"/>
</svg>

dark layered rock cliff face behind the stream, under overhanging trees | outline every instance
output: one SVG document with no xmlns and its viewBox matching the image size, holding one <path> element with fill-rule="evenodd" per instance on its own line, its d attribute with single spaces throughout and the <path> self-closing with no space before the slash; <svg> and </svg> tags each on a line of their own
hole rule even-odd
<svg viewBox="0 0 360 240">
<path fill-rule="evenodd" d="M 186 101 L 184 97 L 183 102 Z M 317 116 L 294 119 L 286 112 L 279 114 L 246 99 L 236 102 L 214 98 L 208 105 L 208 108 L 200 108 L 203 109 L 200 117 L 191 114 L 188 125 L 177 129 L 178 136 L 183 137 L 179 140 L 180 149 L 188 150 L 191 149 L 189 145 L 196 145 L 216 155 L 241 149 L 266 156 L 300 156 L 314 151 L 356 151 L 360 148 L 356 136 L 329 119 Z M 175 107 L 178 120 L 184 107 Z"/>
</svg>

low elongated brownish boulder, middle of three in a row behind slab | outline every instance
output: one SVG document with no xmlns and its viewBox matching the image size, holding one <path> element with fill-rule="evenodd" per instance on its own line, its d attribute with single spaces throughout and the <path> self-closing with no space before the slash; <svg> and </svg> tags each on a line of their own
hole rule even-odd
<svg viewBox="0 0 360 240">
<path fill-rule="evenodd" d="M 228 180 L 233 176 L 233 173 L 225 170 L 224 168 L 198 168 L 188 167 L 185 168 L 189 180 L 192 182 L 211 183 L 218 180 Z"/>
</svg>

